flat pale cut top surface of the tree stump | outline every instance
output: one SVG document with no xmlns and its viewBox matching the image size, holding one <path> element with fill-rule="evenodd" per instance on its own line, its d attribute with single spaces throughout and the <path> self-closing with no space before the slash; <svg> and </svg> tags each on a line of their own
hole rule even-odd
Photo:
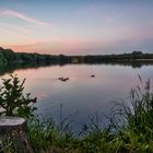
<svg viewBox="0 0 153 153">
<path fill-rule="evenodd" d="M 20 117 L 0 117 L 0 127 L 24 125 L 25 119 Z"/>
</svg>

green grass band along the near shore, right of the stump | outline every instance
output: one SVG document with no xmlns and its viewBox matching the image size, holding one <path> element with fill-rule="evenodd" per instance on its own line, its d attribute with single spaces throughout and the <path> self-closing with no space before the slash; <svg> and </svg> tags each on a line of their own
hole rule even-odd
<svg viewBox="0 0 153 153">
<path fill-rule="evenodd" d="M 15 78 L 12 76 L 10 83 Z M 152 153 L 153 91 L 150 80 L 143 82 L 140 78 L 140 86 L 131 90 L 129 102 L 118 103 L 113 108 L 106 128 L 101 126 L 97 115 L 83 126 L 80 133 L 75 133 L 72 131 L 69 117 L 57 125 L 51 118 L 43 119 L 24 114 L 27 119 L 28 139 L 34 151 L 36 153 Z M 11 87 L 9 90 L 12 91 Z M 32 107 L 28 108 L 32 110 Z M 20 116 L 17 111 L 12 115 Z M 1 141 L 0 149 L 7 153 L 12 152 L 12 142 Z"/>
</svg>

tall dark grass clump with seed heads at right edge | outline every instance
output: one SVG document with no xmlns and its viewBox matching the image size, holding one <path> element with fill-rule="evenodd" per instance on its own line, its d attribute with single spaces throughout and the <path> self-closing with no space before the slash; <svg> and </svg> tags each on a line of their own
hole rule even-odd
<svg viewBox="0 0 153 153">
<path fill-rule="evenodd" d="M 145 140 L 153 140 L 153 89 L 150 80 L 130 92 L 130 106 L 122 105 L 120 116 L 127 121 L 127 128 L 141 134 Z"/>
</svg>

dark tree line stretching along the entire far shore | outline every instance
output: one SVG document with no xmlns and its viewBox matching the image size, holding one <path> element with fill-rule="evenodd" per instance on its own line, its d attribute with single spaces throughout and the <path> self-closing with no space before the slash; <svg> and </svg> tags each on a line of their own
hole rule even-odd
<svg viewBox="0 0 153 153">
<path fill-rule="evenodd" d="M 37 52 L 14 52 L 12 49 L 0 47 L 0 66 L 12 63 L 31 64 L 64 64 L 64 63 L 133 63 L 153 62 L 153 54 L 132 51 L 120 55 L 86 55 L 86 56 L 64 56 L 64 55 L 40 55 Z"/>
</svg>

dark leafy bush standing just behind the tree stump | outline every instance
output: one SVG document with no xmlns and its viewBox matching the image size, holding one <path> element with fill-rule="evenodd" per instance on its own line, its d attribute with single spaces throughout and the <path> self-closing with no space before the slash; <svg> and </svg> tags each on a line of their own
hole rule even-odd
<svg viewBox="0 0 153 153">
<path fill-rule="evenodd" d="M 2 85 L 0 86 L 0 111 L 1 116 L 20 116 L 31 117 L 33 116 L 36 103 L 36 97 L 31 98 L 31 94 L 24 95 L 25 79 L 21 82 L 16 75 L 10 75 L 9 79 L 2 79 Z"/>
</svg>

